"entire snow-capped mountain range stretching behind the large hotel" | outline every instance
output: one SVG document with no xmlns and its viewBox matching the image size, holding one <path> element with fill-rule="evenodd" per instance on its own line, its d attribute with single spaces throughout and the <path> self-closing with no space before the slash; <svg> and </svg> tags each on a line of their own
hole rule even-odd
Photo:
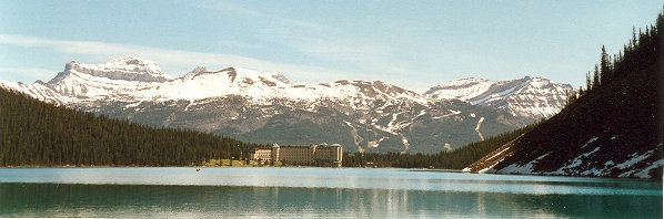
<svg viewBox="0 0 664 219">
<path fill-rule="evenodd" d="M 559 84 L 543 79 L 466 79 L 421 95 L 381 81 L 292 84 L 280 72 L 237 66 L 199 66 L 172 79 L 138 58 L 71 62 L 48 83 L 0 85 L 148 125 L 254 143 L 341 143 L 350 152 L 436 153 L 550 116 L 564 104 Z"/>
</svg>

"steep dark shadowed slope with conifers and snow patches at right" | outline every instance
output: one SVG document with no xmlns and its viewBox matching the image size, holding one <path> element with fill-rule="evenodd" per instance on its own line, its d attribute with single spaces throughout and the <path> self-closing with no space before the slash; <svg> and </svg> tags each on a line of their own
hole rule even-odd
<svg viewBox="0 0 664 219">
<path fill-rule="evenodd" d="M 469 167 L 471 171 L 661 178 L 664 15 L 586 75 L 557 115 Z"/>
</svg>

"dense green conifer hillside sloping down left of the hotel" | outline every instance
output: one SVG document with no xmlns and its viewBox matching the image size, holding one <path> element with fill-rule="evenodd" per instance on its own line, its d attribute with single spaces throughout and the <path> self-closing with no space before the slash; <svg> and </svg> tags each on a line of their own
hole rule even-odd
<svg viewBox="0 0 664 219">
<path fill-rule="evenodd" d="M 255 145 L 54 106 L 0 87 L 0 166 L 188 166 Z"/>
</svg>

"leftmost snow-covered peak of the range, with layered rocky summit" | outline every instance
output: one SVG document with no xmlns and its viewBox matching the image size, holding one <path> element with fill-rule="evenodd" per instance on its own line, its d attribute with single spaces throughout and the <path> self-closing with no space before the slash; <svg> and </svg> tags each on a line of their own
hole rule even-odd
<svg viewBox="0 0 664 219">
<path fill-rule="evenodd" d="M 172 77 L 155 63 L 138 58 L 120 58 L 100 64 L 72 61 L 48 83 L 0 83 L 39 100 L 69 105 L 109 100 L 167 81 L 172 81 Z"/>
</svg>

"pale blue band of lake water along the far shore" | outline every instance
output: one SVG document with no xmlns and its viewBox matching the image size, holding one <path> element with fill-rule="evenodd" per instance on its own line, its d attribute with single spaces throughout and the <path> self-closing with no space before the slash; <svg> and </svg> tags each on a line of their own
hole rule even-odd
<svg viewBox="0 0 664 219">
<path fill-rule="evenodd" d="M 662 196 L 662 182 L 346 168 L 0 168 L 0 182 L 316 187 Z"/>
</svg>

